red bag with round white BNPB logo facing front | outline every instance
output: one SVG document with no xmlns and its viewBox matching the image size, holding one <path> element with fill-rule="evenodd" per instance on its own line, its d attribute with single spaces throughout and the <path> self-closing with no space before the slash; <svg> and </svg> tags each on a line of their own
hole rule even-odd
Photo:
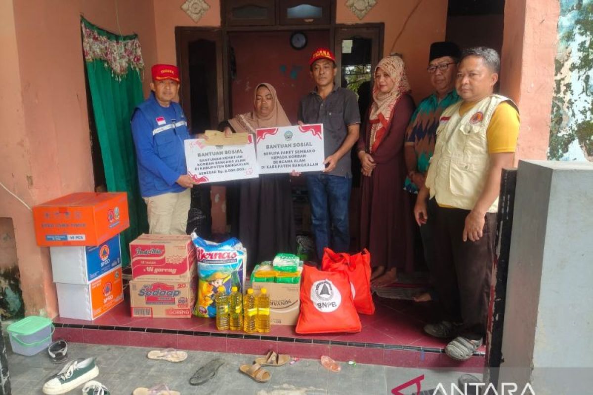
<svg viewBox="0 0 593 395">
<path fill-rule="evenodd" d="M 345 272 L 303 266 L 297 333 L 355 333 L 362 329 Z"/>
</svg>

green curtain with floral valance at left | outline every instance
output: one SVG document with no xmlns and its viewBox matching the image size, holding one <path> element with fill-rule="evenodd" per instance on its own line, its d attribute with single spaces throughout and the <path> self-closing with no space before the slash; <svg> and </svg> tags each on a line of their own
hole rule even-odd
<svg viewBox="0 0 593 395">
<path fill-rule="evenodd" d="M 144 69 L 138 36 L 118 36 L 82 18 L 82 41 L 93 113 L 110 192 L 127 192 L 130 227 L 120 235 L 122 263 L 129 264 L 128 245 L 148 233 L 146 205 L 140 195 L 130 118 L 142 102 Z"/>
</svg>

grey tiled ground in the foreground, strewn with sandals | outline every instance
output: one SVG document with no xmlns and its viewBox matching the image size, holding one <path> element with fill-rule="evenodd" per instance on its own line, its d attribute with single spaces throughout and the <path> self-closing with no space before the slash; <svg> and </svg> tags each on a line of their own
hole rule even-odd
<svg viewBox="0 0 593 395">
<path fill-rule="evenodd" d="M 113 395 L 128 395 L 134 388 L 151 387 L 159 383 L 166 383 L 171 389 L 184 395 L 380 395 L 390 394 L 393 388 L 422 375 L 422 390 L 435 388 L 438 383 L 448 388 L 450 383 L 457 383 L 457 378 L 463 372 L 447 369 L 393 368 L 360 363 L 352 366 L 342 363 L 342 370 L 333 373 L 325 370 L 316 359 L 301 359 L 292 365 L 267 368 L 272 378 L 268 383 L 259 384 L 238 372 L 238 367 L 251 363 L 254 355 L 190 351 L 186 361 L 172 364 L 147 359 L 146 354 L 149 350 L 150 348 L 130 346 L 71 343 L 68 354 L 71 359 L 96 357 L 100 374 L 94 380 L 107 386 Z M 213 357 L 221 357 L 226 361 L 216 378 L 203 386 L 190 386 L 188 380 L 192 374 Z M 46 352 L 24 357 L 8 351 L 12 393 L 42 394 L 43 383 L 61 367 L 62 365 L 50 362 Z M 81 387 L 72 390 L 71 393 L 81 393 Z M 403 389 L 401 393 L 416 393 L 415 387 Z"/>
</svg>

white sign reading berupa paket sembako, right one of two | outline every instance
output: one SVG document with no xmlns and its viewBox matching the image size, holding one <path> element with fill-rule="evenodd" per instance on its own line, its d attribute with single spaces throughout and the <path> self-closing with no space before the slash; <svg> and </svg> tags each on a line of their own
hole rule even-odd
<svg viewBox="0 0 593 395">
<path fill-rule="evenodd" d="M 322 171 L 323 124 L 257 129 L 260 174 Z"/>
</svg>

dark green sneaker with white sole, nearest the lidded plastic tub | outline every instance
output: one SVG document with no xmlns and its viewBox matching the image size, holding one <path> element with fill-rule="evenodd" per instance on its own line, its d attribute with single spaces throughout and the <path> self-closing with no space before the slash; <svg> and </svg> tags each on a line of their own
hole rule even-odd
<svg viewBox="0 0 593 395">
<path fill-rule="evenodd" d="M 97 377 L 99 368 L 95 365 L 95 358 L 84 361 L 68 362 L 58 374 L 43 384 L 43 393 L 47 395 L 65 394 L 82 383 Z"/>
</svg>

